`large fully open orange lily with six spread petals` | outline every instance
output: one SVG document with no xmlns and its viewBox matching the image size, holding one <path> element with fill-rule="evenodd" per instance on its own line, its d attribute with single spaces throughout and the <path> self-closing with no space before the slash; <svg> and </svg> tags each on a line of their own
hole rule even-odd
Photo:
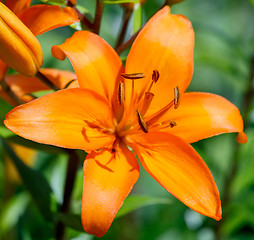
<svg viewBox="0 0 254 240">
<path fill-rule="evenodd" d="M 217 186 L 189 143 L 229 132 L 238 132 L 240 142 L 247 136 L 239 110 L 229 101 L 184 93 L 192 77 L 193 48 L 191 23 L 169 7 L 141 30 L 125 73 L 103 39 L 76 32 L 52 53 L 70 59 L 80 88 L 45 95 L 6 115 L 5 125 L 20 136 L 88 152 L 81 205 L 86 232 L 98 237 L 107 232 L 139 177 L 135 155 L 180 201 L 220 220 Z"/>
</svg>

